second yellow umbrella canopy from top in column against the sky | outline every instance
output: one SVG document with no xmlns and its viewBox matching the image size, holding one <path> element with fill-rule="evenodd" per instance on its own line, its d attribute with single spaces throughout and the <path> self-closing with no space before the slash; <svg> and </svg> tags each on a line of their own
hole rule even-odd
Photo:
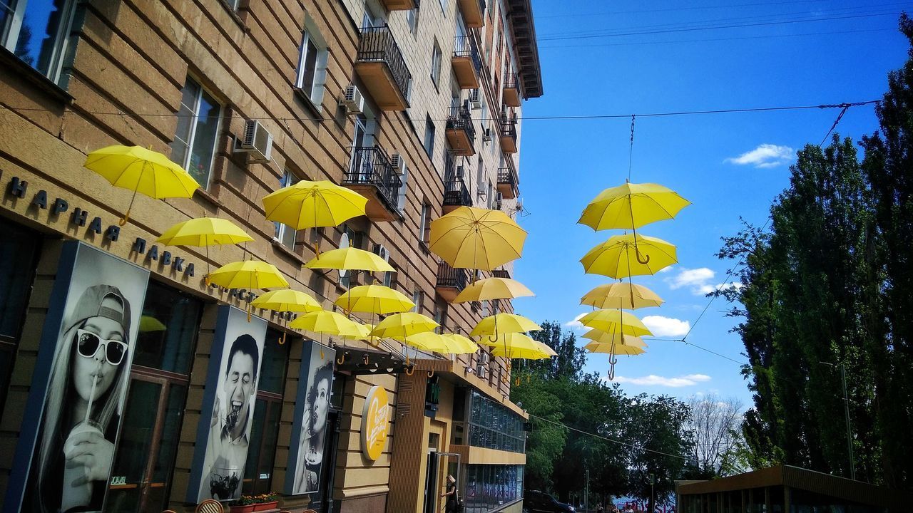
<svg viewBox="0 0 913 513">
<path fill-rule="evenodd" d="M 587 274 L 618 279 L 656 274 L 656 271 L 671 266 L 678 260 L 676 246 L 665 240 L 626 234 L 613 236 L 593 247 L 580 261 Z"/>
</svg>

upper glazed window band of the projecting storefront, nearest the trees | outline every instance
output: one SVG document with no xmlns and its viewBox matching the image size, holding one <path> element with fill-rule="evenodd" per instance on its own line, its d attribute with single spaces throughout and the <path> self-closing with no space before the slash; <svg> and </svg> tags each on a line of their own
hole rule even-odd
<svg viewBox="0 0 913 513">
<path fill-rule="evenodd" d="M 469 445 L 526 452 L 523 417 L 473 391 L 469 408 Z"/>
</svg>

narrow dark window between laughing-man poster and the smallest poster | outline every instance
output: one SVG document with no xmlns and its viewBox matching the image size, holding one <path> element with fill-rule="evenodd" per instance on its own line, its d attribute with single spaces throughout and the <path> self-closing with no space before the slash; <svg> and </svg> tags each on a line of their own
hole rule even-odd
<svg viewBox="0 0 913 513">
<path fill-rule="evenodd" d="M 267 330 L 267 339 L 263 344 L 263 365 L 257 383 L 257 405 L 254 407 L 257 415 L 250 427 L 244 484 L 241 486 L 241 493 L 245 495 L 265 494 L 270 491 L 272 483 L 279 416 L 289 363 L 289 344 L 280 345 L 281 338 L 282 334 L 278 331 Z"/>
</svg>

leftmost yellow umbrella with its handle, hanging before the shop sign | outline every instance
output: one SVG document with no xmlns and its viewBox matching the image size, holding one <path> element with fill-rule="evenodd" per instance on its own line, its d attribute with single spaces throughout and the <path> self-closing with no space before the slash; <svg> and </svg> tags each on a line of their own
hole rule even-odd
<svg viewBox="0 0 913 513">
<path fill-rule="evenodd" d="M 82 164 L 99 173 L 115 187 L 133 191 L 121 226 L 127 224 L 137 193 L 160 200 L 163 198 L 189 198 L 200 187 L 194 177 L 183 167 L 172 162 L 160 152 L 141 146 L 116 144 L 89 152 Z"/>
</svg>

